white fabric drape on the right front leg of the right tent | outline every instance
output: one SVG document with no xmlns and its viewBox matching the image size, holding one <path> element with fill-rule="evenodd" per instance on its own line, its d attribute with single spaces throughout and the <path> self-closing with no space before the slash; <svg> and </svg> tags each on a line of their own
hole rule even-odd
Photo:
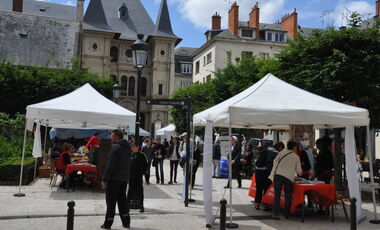
<svg viewBox="0 0 380 230">
<path fill-rule="evenodd" d="M 362 218 L 362 199 L 360 196 L 358 167 L 356 162 L 356 144 L 355 144 L 355 130 L 353 126 L 346 127 L 346 137 L 344 138 L 344 147 L 346 152 L 346 171 L 348 190 L 350 197 L 355 197 L 356 202 L 356 216 L 357 222 Z"/>
</svg>

